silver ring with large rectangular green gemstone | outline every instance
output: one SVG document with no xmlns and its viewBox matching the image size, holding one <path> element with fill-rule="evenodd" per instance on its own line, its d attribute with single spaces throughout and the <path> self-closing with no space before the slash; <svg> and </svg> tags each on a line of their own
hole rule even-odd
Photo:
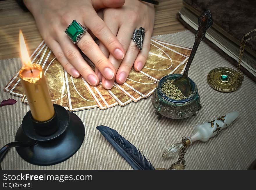
<svg viewBox="0 0 256 190">
<path fill-rule="evenodd" d="M 86 33 L 86 28 L 83 27 L 79 22 L 73 20 L 73 22 L 67 26 L 65 30 L 67 36 L 72 40 L 74 44 L 82 38 L 82 36 Z"/>
</svg>

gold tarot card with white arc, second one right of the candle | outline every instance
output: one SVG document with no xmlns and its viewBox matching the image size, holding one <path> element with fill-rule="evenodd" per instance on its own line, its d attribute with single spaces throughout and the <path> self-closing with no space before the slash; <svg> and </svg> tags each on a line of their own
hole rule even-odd
<svg viewBox="0 0 256 190">
<path fill-rule="evenodd" d="M 69 111 L 98 107 L 87 88 L 85 88 L 82 77 L 74 78 L 66 71 L 64 73 Z"/>
</svg>

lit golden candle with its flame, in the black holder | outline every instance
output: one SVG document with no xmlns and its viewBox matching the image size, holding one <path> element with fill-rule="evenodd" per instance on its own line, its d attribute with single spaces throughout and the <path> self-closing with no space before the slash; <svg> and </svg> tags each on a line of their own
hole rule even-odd
<svg viewBox="0 0 256 190">
<path fill-rule="evenodd" d="M 47 121 L 54 116 L 54 107 L 42 67 L 38 64 L 32 64 L 21 31 L 19 31 L 19 45 L 22 59 L 19 77 L 29 102 L 31 115 L 34 120 Z"/>
</svg>

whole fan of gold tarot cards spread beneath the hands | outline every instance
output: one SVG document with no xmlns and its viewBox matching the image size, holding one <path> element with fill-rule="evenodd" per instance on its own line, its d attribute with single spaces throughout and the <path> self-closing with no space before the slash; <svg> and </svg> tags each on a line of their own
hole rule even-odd
<svg viewBox="0 0 256 190">
<path fill-rule="evenodd" d="M 125 106 L 129 102 L 149 97 L 163 76 L 183 73 L 190 53 L 190 48 L 151 40 L 149 56 L 143 69 L 137 72 L 132 68 L 126 82 L 115 83 L 110 90 L 104 89 L 101 83 L 91 86 L 82 77 L 70 76 L 43 41 L 31 55 L 31 61 L 42 66 L 52 102 L 69 111 L 78 111 L 95 107 L 107 109 L 118 104 Z M 4 90 L 22 96 L 22 102 L 27 103 L 18 72 Z"/>
</svg>

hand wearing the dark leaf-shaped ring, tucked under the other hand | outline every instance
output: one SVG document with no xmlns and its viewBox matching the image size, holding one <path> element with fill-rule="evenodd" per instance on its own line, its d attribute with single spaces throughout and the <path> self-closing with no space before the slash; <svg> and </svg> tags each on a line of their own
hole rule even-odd
<svg viewBox="0 0 256 190">
<path fill-rule="evenodd" d="M 106 8 L 103 10 L 104 22 L 111 32 L 116 35 L 116 38 L 122 44 L 122 47 L 126 52 L 123 60 L 118 60 L 110 54 L 107 48 L 100 42 L 100 49 L 105 56 L 109 58 L 109 61 L 117 71 L 115 78 L 107 80 L 102 77 L 99 70 L 95 68 L 95 73 L 99 79 L 102 80 L 104 88 L 111 89 L 115 80 L 119 84 L 124 83 L 132 66 L 134 66 L 136 71 L 140 71 L 143 68 L 150 48 L 150 39 L 154 26 L 154 15 L 154 6 L 139 0 L 125 1 L 125 4 L 120 8 Z M 145 37 L 141 51 L 131 39 L 134 30 L 139 29 L 140 27 L 145 28 Z"/>
</svg>

